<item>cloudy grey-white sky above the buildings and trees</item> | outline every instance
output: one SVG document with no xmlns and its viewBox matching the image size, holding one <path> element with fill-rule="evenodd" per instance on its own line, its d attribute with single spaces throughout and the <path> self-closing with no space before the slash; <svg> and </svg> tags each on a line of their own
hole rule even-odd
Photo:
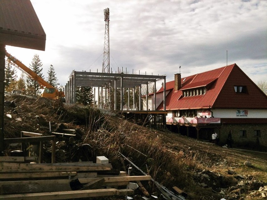
<svg viewBox="0 0 267 200">
<path fill-rule="evenodd" d="M 46 33 L 45 51 L 6 46 L 43 74 L 52 64 L 65 85 L 73 69 L 102 71 L 104 9 L 110 10 L 110 67 L 174 79 L 236 63 L 255 83 L 267 80 L 267 1 L 31 0 Z M 228 61 L 227 54 L 228 51 Z M 158 84 L 157 84 L 158 87 Z"/>
</svg>

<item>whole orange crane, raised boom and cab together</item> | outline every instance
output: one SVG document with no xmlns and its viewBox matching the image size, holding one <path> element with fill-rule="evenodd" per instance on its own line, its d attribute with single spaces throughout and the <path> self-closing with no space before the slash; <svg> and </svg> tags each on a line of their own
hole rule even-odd
<svg viewBox="0 0 267 200">
<path fill-rule="evenodd" d="M 6 56 L 12 61 L 15 67 L 22 69 L 30 78 L 34 79 L 40 85 L 40 88 L 43 89 L 41 92 L 41 97 L 46 97 L 49 99 L 59 99 L 65 97 L 64 92 L 58 91 L 54 86 L 50 85 L 42 77 L 37 75 L 33 70 L 24 65 L 21 61 L 9 54 L 7 51 Z"/>
</svg>

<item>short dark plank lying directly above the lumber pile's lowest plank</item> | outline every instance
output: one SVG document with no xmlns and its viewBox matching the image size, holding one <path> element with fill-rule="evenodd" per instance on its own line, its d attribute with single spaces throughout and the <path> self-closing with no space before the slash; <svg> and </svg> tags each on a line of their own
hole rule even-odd
<svg viewBox="0 0 267 200">
<path fill-rule="evenodd" d="M 28 185 L 3 185 L 1 187 L 1 194 L 19 194 L 19 193 L 36 193 L 36 192 L 59 192 L 71 191 L 70 184 L 28 184 Z"/>
</svg>

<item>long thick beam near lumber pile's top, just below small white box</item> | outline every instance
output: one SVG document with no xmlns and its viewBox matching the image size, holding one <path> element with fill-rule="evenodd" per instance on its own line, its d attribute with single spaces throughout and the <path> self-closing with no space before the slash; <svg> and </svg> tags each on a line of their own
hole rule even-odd
<svg viewBox="0 0 267 200">
<path fill-rule="evenodd" d="M 6 172 L 73 172 L 73 171 L 101 171 L 111 170 L 111 163 L 65 163 L 32 164 L 0 162 L 0 173 Z"/>
</svg>

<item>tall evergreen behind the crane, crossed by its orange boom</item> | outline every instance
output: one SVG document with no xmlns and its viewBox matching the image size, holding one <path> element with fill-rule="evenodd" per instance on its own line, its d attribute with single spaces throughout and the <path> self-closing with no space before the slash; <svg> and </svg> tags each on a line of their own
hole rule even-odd
<svg viewBox="0 0 267 200">
<path fill-rule="evenodd" d="M 44 78 L 43 76 L 43 64 L 39 58 L 38 54 L 34 54 L 34 57 L 32 59 L 32 62 L 30 64 L 30 69 L 34 71 L 35 74 L 39 75 L 41 78 Z M 26 80 L 27 84 L 27 93 L 28 95 L 39 95 L 40 94 L 40 86 L 38 85 L 38 82 L 36 80 L 33 80 L 31 78 L 27 78 Z"/>
</svg>

